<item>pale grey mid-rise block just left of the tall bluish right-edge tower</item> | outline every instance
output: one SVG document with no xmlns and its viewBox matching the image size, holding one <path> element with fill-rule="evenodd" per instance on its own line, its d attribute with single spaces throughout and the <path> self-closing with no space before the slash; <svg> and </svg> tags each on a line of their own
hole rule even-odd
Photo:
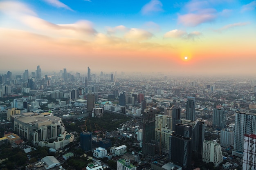
<svg viewBox="0 0 256 170">
<path fill-rule="evenodd" d="M 229 147 L 234 144 L 234 126 L 220 130 L 220 146 Z"/>
</svg>

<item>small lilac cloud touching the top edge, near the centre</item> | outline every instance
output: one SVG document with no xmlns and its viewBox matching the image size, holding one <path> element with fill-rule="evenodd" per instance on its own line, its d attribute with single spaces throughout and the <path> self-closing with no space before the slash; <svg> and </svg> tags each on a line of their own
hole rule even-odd
<svg viewBox="0 0 256 170">
<path fill-rule="evenodd" d="M 143 15 L 148 15 L 153 12 L 163 11 L 162 7 L 163 7 L 163 4 L 159 0 L 151 0 L 150 2 L 148 2 L 142 7 L 141 13 Z"/>
</svg>

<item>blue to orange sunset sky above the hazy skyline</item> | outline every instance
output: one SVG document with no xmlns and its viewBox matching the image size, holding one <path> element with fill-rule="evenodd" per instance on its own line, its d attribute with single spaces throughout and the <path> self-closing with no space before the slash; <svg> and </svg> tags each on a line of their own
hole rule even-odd
<svg viewBox="0 0 256 170">
<path fill-rule="evenodd" d="M 256 0 L 0 0 L 0 58 L 1 72 L 255 75 Z"/>
</svg>

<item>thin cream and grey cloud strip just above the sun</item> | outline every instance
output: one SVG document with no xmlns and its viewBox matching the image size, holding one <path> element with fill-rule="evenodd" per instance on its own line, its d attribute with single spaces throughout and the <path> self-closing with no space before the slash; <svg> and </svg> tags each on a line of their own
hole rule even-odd
<svg viewBox="0 0 256 170">
<path fill-rule="evenodd" d="M 185 40 L 195 40 L 195 38 L 198 38 L 200 35 L 202 35 L 202 33 L 199 31 L 187 33 L 186 31 L 173 29 L 165 33 L 164 38 L 182 38 Z"/>
</svg>

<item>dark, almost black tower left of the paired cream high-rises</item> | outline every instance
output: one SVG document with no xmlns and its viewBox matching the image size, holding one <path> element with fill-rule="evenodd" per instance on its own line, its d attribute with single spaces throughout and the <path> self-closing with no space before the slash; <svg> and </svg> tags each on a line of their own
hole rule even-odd
<svg viewBox="0 0 256 170">
<path fill-rule="evenodd" d="M 145 155 L 155 155 L 155 148 L 151 144 L 155 140 L 155 110 L 142 113 L 142 152 Z"/>
</svg>

